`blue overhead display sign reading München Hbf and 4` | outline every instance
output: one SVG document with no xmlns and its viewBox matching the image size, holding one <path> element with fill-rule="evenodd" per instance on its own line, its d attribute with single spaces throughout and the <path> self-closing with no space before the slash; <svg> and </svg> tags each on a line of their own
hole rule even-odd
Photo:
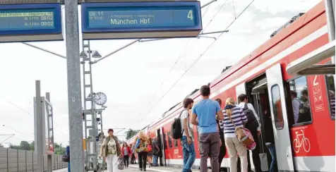
<svg viewBox="0 0 336 172">
<path fill-rule="evenodd" d="M 197 37 L 199 1 L 83 3 L 84 39 Z"/>
</svg>

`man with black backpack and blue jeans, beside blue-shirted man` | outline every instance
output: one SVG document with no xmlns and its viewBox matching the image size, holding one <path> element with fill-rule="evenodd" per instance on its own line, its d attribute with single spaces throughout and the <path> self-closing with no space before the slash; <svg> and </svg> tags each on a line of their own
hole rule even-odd
<svg viewBox="0 0 336 172">
<path fill-rule="evenodd" d="M 196 159 L 195 147 L 193 145 L 193 127 L 189 120 L 189 110 L 193 107 L 193 99 L 186 98 L 183 102 L 184 109 L 181 111 L 173 125 L 173 138 L 180 139 L 183 151 L 184 168 L 182 172 L 190 172 Z"/>
</svg>

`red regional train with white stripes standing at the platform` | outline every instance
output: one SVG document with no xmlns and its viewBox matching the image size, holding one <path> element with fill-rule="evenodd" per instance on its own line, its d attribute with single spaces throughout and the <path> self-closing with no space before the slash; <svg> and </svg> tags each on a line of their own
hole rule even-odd
<svg viewBox="0 0 336 172">
<path fill-rule="evenodd" d="M 335 171 L 333 75 L 293 76 L 286 70 L 289 63 L 328 43 L 328 25 L 322 1 L 307 13 L 292 18 L 281 30 L 275 31 L 267 42 L 209 83 L 211 99 L 225 101 L 227 97 L 236 99 L 239 94 L 247 94 L 258 116 L 263 116 L 265 111 L 270 112 L 279 171 Z M 331 58 L 319 64 L 328 63 L 331 63 Z M 309 112 L 305 113 L 303 121 L 294 121 L 293 91 L 297 98 L 306 97 L 308 101 Z M 197 103 L 200 100 L 199 91 L 195 90 L 188 97 Z M 181 142 L 173 140 L 170 133 L 172 122 L 182 109 L 181 103 L 176 104 L 159 121 L 143 129 L 150 137 L 160 136 L 164 152 L 162 158 L 166 166 L 183 165 Z M 260 118 L 260 123 L 263 132 L 263 118 Z M 193 135 L 196 138 L 193 168 L 198 168 L 200 154 L 196 126 L 193 127 Z M 262 133 L 259 139 L 265 141 L 265 134 Z M 134 143 L 134 137 L 128 140 L 128 144 Z M 260 151 L 269 154 L 265 146 L 264 149 L 260 147 Z M 221 167 L 229 168 L 228 154 Z"/>
</svg>

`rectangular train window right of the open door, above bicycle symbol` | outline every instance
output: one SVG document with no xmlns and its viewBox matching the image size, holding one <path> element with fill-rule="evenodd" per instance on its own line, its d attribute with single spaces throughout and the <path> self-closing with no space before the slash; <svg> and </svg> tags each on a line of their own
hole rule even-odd
<svg viewBox="0 0 336 172">
<path fill-rule="evenodd" d="M 291 90 L 294 125 L 311 123 L 311 104 L 306 77 L 301 76 L 289 81 L 289 88 Z"/>
</svg>

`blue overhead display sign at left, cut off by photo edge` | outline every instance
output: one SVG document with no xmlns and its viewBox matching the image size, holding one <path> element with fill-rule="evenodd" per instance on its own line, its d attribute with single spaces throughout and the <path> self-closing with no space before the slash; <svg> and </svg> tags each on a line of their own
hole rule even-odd
<svg viewBox="0 0 336 172">
<path fill-rule="evenodd" d="M 0 5 L 0 42 L 63 40 L 61 4 Z"/>
</svg>

